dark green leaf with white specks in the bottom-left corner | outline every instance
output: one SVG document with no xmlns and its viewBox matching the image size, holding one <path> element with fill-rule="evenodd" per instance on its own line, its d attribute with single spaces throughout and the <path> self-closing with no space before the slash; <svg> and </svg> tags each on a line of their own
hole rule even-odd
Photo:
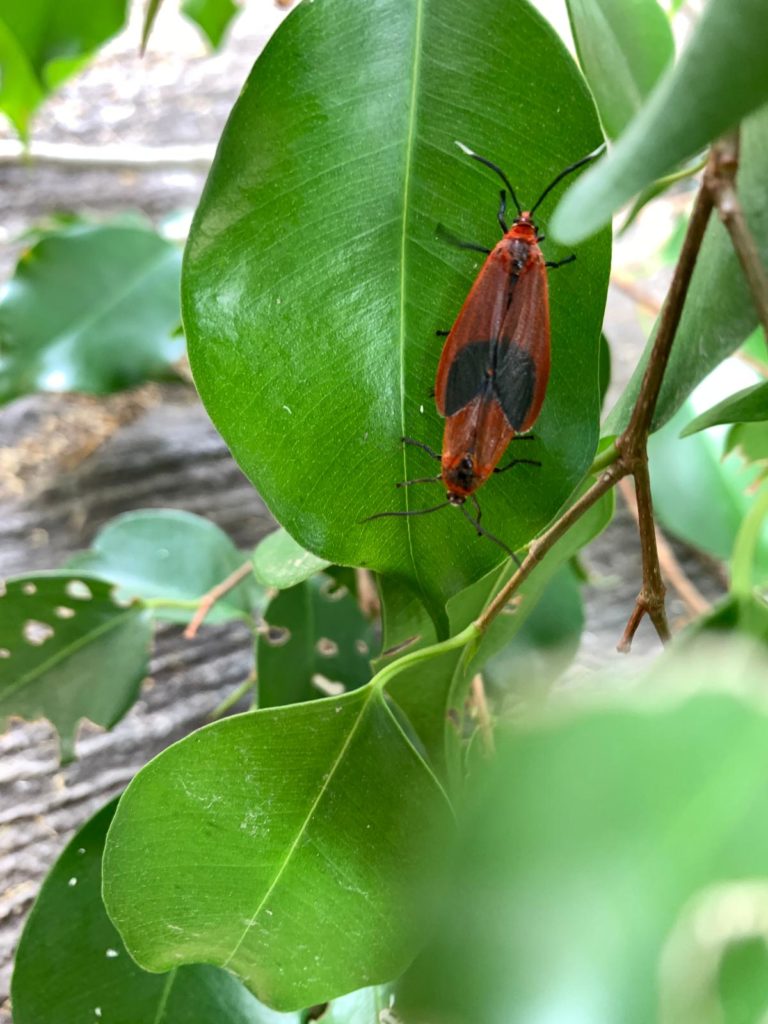
<svg viewBox="0 0 768 1024">
<path fill-rule="evenodd" d="M 300 1024 L 298 1014 L 268 1010 L 218 968 L 158 975 L 136 966 L 101 901 L 101 853 L 116 806 L 77 833 L 43 883 L 16 952 L 16 1024 Z"/>
</svg>

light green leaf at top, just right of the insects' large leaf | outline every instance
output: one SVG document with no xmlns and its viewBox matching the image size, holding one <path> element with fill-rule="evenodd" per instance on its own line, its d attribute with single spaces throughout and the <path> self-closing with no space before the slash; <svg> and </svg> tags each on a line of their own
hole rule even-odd
<svg viewBox="0 0 768 1024">
<path fill-rule="evenodd" d="M 620 135 L 675 56 L 656 0 L 567 0 L 579 61 L 608 138 Z"/>
</svg>

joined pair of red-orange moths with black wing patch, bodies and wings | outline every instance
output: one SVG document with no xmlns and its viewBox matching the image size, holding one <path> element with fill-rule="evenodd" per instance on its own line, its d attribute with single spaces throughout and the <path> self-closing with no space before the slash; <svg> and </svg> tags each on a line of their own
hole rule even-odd
<svg viewBox="0 0 768 1024">
<path fill-rule="evenodd" d="M 486 258 L 437 368 L 441 475 L 452 504 L 484 483 L 512 438 L 534 425 L 549 369 L 546 261 L 523 212 Z"/>
</svg>

